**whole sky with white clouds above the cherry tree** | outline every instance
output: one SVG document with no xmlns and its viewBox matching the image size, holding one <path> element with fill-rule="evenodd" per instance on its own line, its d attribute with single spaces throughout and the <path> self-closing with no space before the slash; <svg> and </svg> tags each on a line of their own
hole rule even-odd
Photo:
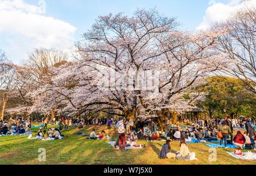
<svg viewBox="0 0 256 176">
<path fill-rule="evenodd" d="M 46 11 L 39 2 L 45 2 Z M 0 50 L 15 64 L 22 64 L 35 48 L 71 53 L 98 16 L 131 16 L 136 9 L 156 8 L 176 17 L 182 30 L 205 30 L 241 4 L 242 0 L 0 0 Z"/>
</svg>

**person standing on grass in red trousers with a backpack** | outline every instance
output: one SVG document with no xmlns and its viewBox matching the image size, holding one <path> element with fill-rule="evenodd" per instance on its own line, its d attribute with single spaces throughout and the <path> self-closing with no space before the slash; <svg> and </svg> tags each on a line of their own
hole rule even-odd
<svg viewBox="0 0 256 176">
<path fill-rule="evenodd" d="M 121 120 L 118 121 L 117 125 L 115 127 L 118 130 L 118 145 L 119 150 L 126 151 L 125 149 L 125 118 L 121 118 Z"/>
</svg>

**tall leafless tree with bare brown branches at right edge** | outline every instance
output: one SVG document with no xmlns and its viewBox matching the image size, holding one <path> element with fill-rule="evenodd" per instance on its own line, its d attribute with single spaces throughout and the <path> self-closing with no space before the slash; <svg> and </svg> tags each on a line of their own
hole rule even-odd
<svg viewBox="0 0 256 176">
<path fill-rule="evenodd" d="M 234 68 L 226 74 L 241 79 L 244 88 L 256 93 L 256 9 L 250 3 L 233 14 L 217 28 L 229 28 L 220 37 L 218 49 L 233 61 Z"/>
</svg>

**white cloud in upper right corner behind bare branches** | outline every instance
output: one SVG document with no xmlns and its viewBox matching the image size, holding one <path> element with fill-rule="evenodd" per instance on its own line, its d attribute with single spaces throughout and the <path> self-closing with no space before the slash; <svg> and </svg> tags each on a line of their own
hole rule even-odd
<svg viewBox="0 0 256 176">
<path fill-rule="evenodd" d="M 210 0 L 203 22 L 196 30 L 207 30 L 212 23 L 224 22 L 234 11 L 241 9 L 245 4 L 256 7 L 256 0 L 229 0 L 226 4 Z"/>
</svg>

